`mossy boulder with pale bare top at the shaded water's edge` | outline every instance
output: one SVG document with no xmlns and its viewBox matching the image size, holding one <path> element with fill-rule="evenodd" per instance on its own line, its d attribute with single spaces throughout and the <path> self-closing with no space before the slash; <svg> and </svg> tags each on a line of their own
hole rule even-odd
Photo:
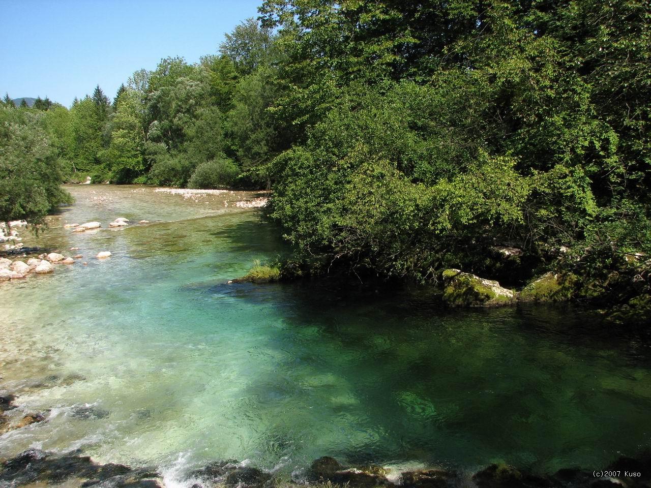
<svg viewBox="0 0 651 488">
<path fill-rule="evenodd" d="M 443 284 L 443 301 L 452 306 L 510 305 L 515 301 L 515 293 L 499 282 L 462 273 L 459 269 L 443 271 Z"/>
</svg>

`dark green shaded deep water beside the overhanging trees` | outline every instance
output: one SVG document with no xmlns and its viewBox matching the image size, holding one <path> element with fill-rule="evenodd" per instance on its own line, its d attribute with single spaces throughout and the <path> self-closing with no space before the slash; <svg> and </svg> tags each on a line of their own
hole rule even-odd
<svg viewBox="0 0 651 488">
<path fill-rule="evenodd" d="M 267 442 L 284 439 L 284 455 L 447 467 L 503 460 L 550 472 L 606 465 L 649 444 L 644 333 L 615 332 L 594 312 L 451 310 L 432 295 L 339 280 L 206 293 L 275 303 L 283 317 L 266 338 L 283 360 L 247 396 L 277 419 Z"/>
</svg>

